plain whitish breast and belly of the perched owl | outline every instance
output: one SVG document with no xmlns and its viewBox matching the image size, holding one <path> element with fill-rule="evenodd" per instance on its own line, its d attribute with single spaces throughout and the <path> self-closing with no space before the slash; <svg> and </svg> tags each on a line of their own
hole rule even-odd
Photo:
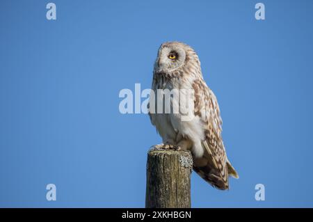
<svg viewBox="0 0 313 222">
<path fill-rule="evenodd" d="M 179 138 L 177 134 L 194 143 L 204 139 L 203 123 L 194 115 L 194 96 L 188 91 L 191 88 L 191 83 L 182 79 L 161 79 L 154 84 L 156 113 L 150 116 L 163 141 L 166 138 L 175 141 Z"/>
</svg>

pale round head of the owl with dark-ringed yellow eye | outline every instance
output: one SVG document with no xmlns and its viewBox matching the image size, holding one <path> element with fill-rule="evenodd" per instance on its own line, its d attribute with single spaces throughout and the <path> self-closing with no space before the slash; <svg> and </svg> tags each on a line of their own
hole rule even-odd
<svg viewBox="0 0 313 222">
<path fill-rule="evenodd" d="M 186 68 L 188 63 L 196 63 L 200 68 L 199 58 L 190 46 L 182 42 L 165 42 L 159 48 L 154 73 L 172 75 Z"/>
</svg>

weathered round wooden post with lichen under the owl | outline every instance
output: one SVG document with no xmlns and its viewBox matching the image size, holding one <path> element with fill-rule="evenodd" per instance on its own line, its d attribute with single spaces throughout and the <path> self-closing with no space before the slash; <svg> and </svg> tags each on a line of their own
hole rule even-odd
<svg viewBox="0 0 313 222">
<path fill-rule="evenodd" d="M 145 207 L 191 207 L 190 177 L 193 158 L 190 152 L 152 148 L 147 154 Z"/>
</svg>

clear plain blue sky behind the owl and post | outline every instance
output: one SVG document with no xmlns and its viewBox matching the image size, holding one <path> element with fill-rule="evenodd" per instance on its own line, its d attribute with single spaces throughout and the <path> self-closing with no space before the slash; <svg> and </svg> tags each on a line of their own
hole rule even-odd
<svg viewBox="0 0 313 222">
<path fill-rule="evenodd" d="M 1 1 L 0 207 L 144 207 L 145 114 L 120 90 L 150 88 L 162 42 L 200 56 L 240 179 L 193 173 L 193 207 L 313 207 L 313 2 Z M 57 200 L 47 201 L 47 184 Z M 255 184 L 266 200 L 255 200 Z"/>
</svg>

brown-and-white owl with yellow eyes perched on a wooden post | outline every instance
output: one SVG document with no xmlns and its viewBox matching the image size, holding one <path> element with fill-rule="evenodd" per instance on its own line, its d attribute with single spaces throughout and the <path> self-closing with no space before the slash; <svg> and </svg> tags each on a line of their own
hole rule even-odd
<svg viewBox="0 0 313 222">
<path fill-rule="evenodd" d="M 186 93 L 188 91 L 192 93 Z M 228 177 L 238 178 L 239 175 L 226 156 L 216 96 L 205 83 L 198 55 L 190 46 L 165 42 L 159 47 L 152 93 L 149 116 L 162 137 L 162 146 L 190 150 L 193 170 L 213 187 L 229 189 Z M 166 100 L 166 96 L 170 98 Z M 182 97 L 185 99 L 180 100 Z M 186 113 L 182 110 L 186 109 L 180 107 L 183 103 L 191 107 L 186 108 L 190 118 L 184 119 Z M 168 110 L 163 107 L 166 104 L 170 106 Z"/>
</svg>

